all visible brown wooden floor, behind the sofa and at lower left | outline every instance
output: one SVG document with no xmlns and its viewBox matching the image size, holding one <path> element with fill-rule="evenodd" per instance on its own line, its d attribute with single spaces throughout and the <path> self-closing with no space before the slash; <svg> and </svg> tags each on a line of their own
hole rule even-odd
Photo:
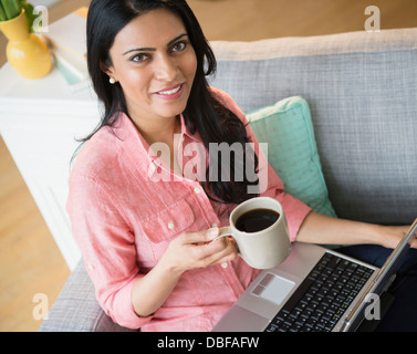
<svg viewBox="0 0 417 354">
<path fill-rule="evenodd" d="M 87 0 L 53 6 L 50 20 Z M 209 40 L 320 35 L 363 31 L 368 4 L 380 10 L 380 28 L 417 27 L 416 0 L 189 0 Z M 4 62 L 0 35 L 0 64 Z M 2 83 L 3 84 L 3 83 Z M 38 331 L 35 294 L 53 303 L 70 271 L 13 159 L 0 138 L 0 331 Z"/>
</svg>

